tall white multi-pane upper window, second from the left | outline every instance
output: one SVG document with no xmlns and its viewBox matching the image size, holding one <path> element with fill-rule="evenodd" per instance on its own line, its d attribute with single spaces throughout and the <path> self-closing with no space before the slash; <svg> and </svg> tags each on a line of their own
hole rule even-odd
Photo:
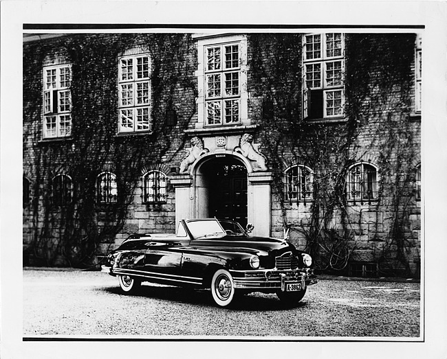
<svg viewBox="0 0 447 359">
<path fill-rule="evenodd" d="M 122 56 L 118 70 L 119 132 L 150 131 L 152 122 L 149 54 Z"/>
</svg>

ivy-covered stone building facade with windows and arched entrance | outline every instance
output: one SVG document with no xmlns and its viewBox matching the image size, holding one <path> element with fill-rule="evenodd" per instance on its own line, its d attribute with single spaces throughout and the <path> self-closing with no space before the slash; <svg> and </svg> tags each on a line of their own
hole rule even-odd
<svg viewBox="0 0 447 359">
<path fill-rule="evenodd" d="M 24 264 L 216 216 L 419 276 L 421 58 L 417 34 L 25 36 Z"/>
</svg>

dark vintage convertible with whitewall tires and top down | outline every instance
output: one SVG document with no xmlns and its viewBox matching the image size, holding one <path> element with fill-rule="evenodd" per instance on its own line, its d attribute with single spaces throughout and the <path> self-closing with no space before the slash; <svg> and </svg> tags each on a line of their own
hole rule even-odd
<svg viewBox="0 0 447 359">
<path fill-rule="evenodd" d="M 124 293 L 142 281 L 209 288 L 226 307 L 250 292 L 276 293 L 287 305 L 317 283 L 312 258 L 287 240 L 251 237 L 231 220 L 181 220 L 175 234 L 133 234 L 107 256 L 102 272 L 117 276 Z"/>
</svg>

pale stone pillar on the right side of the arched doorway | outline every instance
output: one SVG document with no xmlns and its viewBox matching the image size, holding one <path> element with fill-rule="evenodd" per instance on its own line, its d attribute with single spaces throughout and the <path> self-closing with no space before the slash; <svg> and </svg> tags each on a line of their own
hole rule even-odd
<svg viewBox="0 0 447 359">
<path fill-rule="evenodd" d="M 248 222 L 254 224 L 252 235 L 270 237 L 272 172 L 248 174 Z"/>
</svg>

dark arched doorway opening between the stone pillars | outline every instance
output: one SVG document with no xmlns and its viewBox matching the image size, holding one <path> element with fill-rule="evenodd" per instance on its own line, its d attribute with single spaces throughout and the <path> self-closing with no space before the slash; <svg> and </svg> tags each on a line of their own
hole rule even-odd
<svg viewBox="0 0 447 359">
<path fill-rule="evenodd" d="M 208 216 L 230 219 L 246 227 L 247 168 L 233 156 L 212 157 L 200 166 L 200 174 L 206 187 Z M 199 204 L 202 205 L 202 204 Z"/>
</svg>

